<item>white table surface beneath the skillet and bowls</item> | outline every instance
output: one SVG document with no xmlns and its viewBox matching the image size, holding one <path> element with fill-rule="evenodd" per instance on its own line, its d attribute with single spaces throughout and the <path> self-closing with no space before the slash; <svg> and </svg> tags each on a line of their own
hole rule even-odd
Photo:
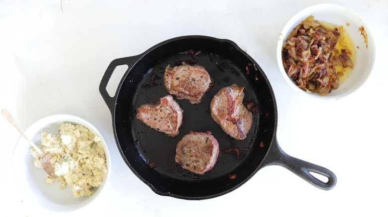
<svg viewBox="0 0 388 217">
<path fill-rule="evenodd" d="M 276 62 L 285 23 L 299 10 L 331 2 L 356 12 L 376 42 L 367 82 L 339 101 L 295 93 Z M 387 0 L 0 0 L 0 109 L 23 128 L 50 114 L 94 124 L 108 142 L 110 182 L 72 213 L 35 207 L 18 191 L 12 152 L 19 133 L 0 120 L 1 213 L 11 216 L 384 216 L 387 215 Z M 278 140 L 289 155 L 332 170 L 337 185 L 313 187 L 281 166 L 259 170 L 221 197 L 187 201 L 155 194 L 122 160 L 98 85 L 111 60 L 141 54 L 164 40 L 207 35 L 234 41 L 262 67 L 274 89 Z M 110 80 L 114 91 L 120 75 Z M 115 83 L 116 82 L 116 83 Z M 116 85 L 116 86 L 115 86 Z M 2 215 L 2 214 L 1 214 Z"/>
</svg>

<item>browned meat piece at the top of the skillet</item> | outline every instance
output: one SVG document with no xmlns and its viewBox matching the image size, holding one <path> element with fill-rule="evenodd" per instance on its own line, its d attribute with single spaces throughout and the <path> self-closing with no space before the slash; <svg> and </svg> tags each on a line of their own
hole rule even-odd
<svg viewBox="0 0 388 217">
<path fill-rule="evenodd" d="M 191 104 L 197 104 L 209 89 L 210 75 L 200 65 L 182 63 L 183 65 L 174 68 L 170 64 L 166 67 L 164 85 L 178 100 L 187 99 Z"/>
</svg>

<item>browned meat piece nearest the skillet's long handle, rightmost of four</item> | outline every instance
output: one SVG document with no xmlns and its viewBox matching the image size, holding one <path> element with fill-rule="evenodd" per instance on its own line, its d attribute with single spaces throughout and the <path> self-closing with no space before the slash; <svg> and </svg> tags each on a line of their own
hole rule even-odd
<svg viewBox="0 0 388 217">
<path fill-rule="evenodd" d="M 252 113 L 244 107 L 244 87 L 224 87 L 210 103 L 211 117 L 235 139 L 245 139 L 252 126 Z"/>
</svg>

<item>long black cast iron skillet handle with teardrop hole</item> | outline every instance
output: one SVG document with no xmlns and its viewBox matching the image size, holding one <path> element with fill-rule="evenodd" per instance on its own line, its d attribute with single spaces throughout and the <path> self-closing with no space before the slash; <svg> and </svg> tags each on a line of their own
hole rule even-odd
<svg viewBox="0 0 388 217">
<path fill-rule="evenodd" d="M 276 141 L 276 144 L 273 144 L 271 147 L 272 150 L 270 150 L 269 155 L 267 157 L 270 157 L 266 159 L 265 166 L 267 165 L 280 165 L 287 169 L 289 169 L 291 172 L 295 173 L 308 183 L 312 184 L 313 186 L 322 189 L 322 190 L 330 190 L 334 188 L 334 186 L 337 183 L 337 177 L 335 174 L 316 164 L 308 163 L 305 161 L 302 161 L 300 159 L 294 158 L 286 154 L 279 146 L 278 142 Z M 327 182 L 323 182 L 313 176 L 310 172 L 317 173 L 320 175 L 323 175 L 328 178 Z"/>
</svg>

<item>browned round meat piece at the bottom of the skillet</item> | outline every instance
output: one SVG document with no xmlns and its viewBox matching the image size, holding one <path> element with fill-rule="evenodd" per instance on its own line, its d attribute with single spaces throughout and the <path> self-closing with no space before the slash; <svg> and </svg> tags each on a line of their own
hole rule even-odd
<svg viewBox="0 0 388 217">
<path fill-rule="evenodd" d="M 218 142 L 210 131 L 190 131 L 178 142 L 175 162 L 194 173 L 203 174 L 213 168 L 218 153 Z"/>
</svg>

